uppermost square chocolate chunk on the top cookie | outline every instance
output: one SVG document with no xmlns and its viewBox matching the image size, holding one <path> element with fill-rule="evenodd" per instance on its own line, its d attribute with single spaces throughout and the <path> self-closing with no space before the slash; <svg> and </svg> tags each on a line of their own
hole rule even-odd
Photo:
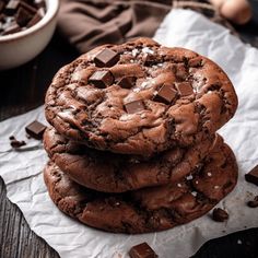
<svg viewBox="0 0 258 258">
<path fill-rule="evenodd" d="M 119 55 L 109 48 L 103 49 L 94 58 L 94 62 L 97 67 L 113 67 L 119 61 Z"/>
</svg>

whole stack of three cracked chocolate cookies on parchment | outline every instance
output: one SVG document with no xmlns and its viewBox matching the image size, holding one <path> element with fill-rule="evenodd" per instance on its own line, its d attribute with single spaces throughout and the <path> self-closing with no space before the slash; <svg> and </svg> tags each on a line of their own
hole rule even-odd
<svg viewBox="0 0 258 258">
<path fill-rule="evenodd" d="M 56 206 L 109 232 L 167 230 L 197 219 L 236 185 L 216 133 L 237 107 L 214 62 L 149 38 L 105 45 L 59 70 L 44 177 Z"/>
</svg>

